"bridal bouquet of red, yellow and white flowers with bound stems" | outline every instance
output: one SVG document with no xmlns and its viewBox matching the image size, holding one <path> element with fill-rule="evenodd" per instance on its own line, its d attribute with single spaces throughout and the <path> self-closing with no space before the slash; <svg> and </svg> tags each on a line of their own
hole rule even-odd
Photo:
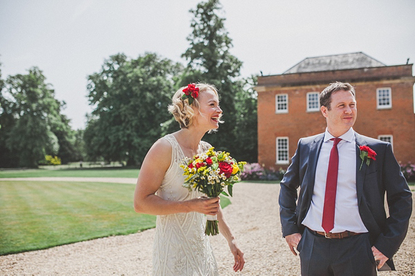
<svg viewBox="0 0 415 276">
<path fill-rule="evenodd" d="M 210 148 L 201 155 L 194 155 L 185 161 L 183 168 L 186 179 L 183 187 L 189 190 L 199 190 L 208 197 L 217 197 L 220 194 L 232 197 L 233 185 L 240 181 L 241 172 L 246 162 L 237 162 L 228 152 L 214 151 Z M 228 187 L 228 193 L 223 189 Z M 216 216 L 208 216 L 205 234 L 219 233 Z"/>
</svg>

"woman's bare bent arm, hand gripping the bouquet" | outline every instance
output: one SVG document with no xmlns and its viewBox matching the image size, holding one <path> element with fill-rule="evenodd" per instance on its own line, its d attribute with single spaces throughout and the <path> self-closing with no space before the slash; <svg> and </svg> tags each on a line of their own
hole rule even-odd
<svg viewBox="0 0 415 276">
<path fill-rule="evenodd" d="M 172 146 L 165 139 L 158 140 L 147 152 L 138 175 L 134 192 L 134 210 L 149 215 L 199 212 L 216 215 L 219 199 L 198 198 L 170 201 L 156 195 L 172 160 Z"/>
</svg>

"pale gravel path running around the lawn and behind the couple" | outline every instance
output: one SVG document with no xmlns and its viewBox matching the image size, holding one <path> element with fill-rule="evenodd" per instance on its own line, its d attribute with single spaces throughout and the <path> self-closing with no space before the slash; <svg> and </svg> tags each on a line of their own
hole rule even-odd
<svg viewBox="0 0 415 276">
<path fill-rule="evenodd" d="M 86 181 L 69 177 L 48 179 Z M 131 184 L 136 181 L 120 180 Z M 89 181 L 117 182 L 116 179 L 96 178 Z M 237 275 L 299 275 L 299 257 L 291 253 L 282 239 L 278 193 L 279 185 L 273 184 L 241 183 L 234 187 L 232 204 L 224 209 L 224 213 L 245 253 L 246 266 Z M 153 238 L 154 229 L 150 229 L 132 235 L 0 256 L 0 275 L 151 275 Z M 232 254 L 223 236 L 210 239 L 220 275 L 235 275 Z M 394 257 L 398 271 L 378 275 L 415 275 L 414 241 L 413 213 L 407 238 Z"/>
</svg>

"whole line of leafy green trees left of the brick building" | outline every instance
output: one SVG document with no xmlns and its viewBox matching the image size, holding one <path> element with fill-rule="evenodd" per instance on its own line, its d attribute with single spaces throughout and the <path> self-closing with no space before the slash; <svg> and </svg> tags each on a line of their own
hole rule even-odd
<svg viewBox="0 0 415 276">
<path fill-rule="evenodd" d="M 242 79 L 242 62 L 230 50 L 219 0 L 199 3 L 183 53 L 187 67 L 146 53 L 137 59 L 113 55 L 89 76 L 95 110 L 86 130 L 71 130 L 64 102 L 39 68 L 8 77 L 0 71 L 0 167 L 36 167 L 45 155 L 69 161 L 102 160 L 140 164 L 156 139 L 178 130 L 167 112 L 172 92 L 187 83 L 212 83 L 219 90 L 225 124 L 205 137 L 239 160 L 257 161 L 256 77 Z"/>
</svg>

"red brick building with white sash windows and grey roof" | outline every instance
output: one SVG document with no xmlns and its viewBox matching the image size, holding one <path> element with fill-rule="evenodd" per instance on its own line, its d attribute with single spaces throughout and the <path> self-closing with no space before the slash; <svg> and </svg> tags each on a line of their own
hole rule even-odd
<svg viewBox="0 0 415 276">
<path fill-rule="evenodd" d="M 361 135 L 390 141 L 396 159 L 415 163 L 412 64 L 385 66 L 362 52 L 306 58 L 282 75 L 258 77 L 258 161 L 287 168 L 301 137 L 324 132 L 318 96 L 329 83 L 356 89 Z"/>
</svg>

